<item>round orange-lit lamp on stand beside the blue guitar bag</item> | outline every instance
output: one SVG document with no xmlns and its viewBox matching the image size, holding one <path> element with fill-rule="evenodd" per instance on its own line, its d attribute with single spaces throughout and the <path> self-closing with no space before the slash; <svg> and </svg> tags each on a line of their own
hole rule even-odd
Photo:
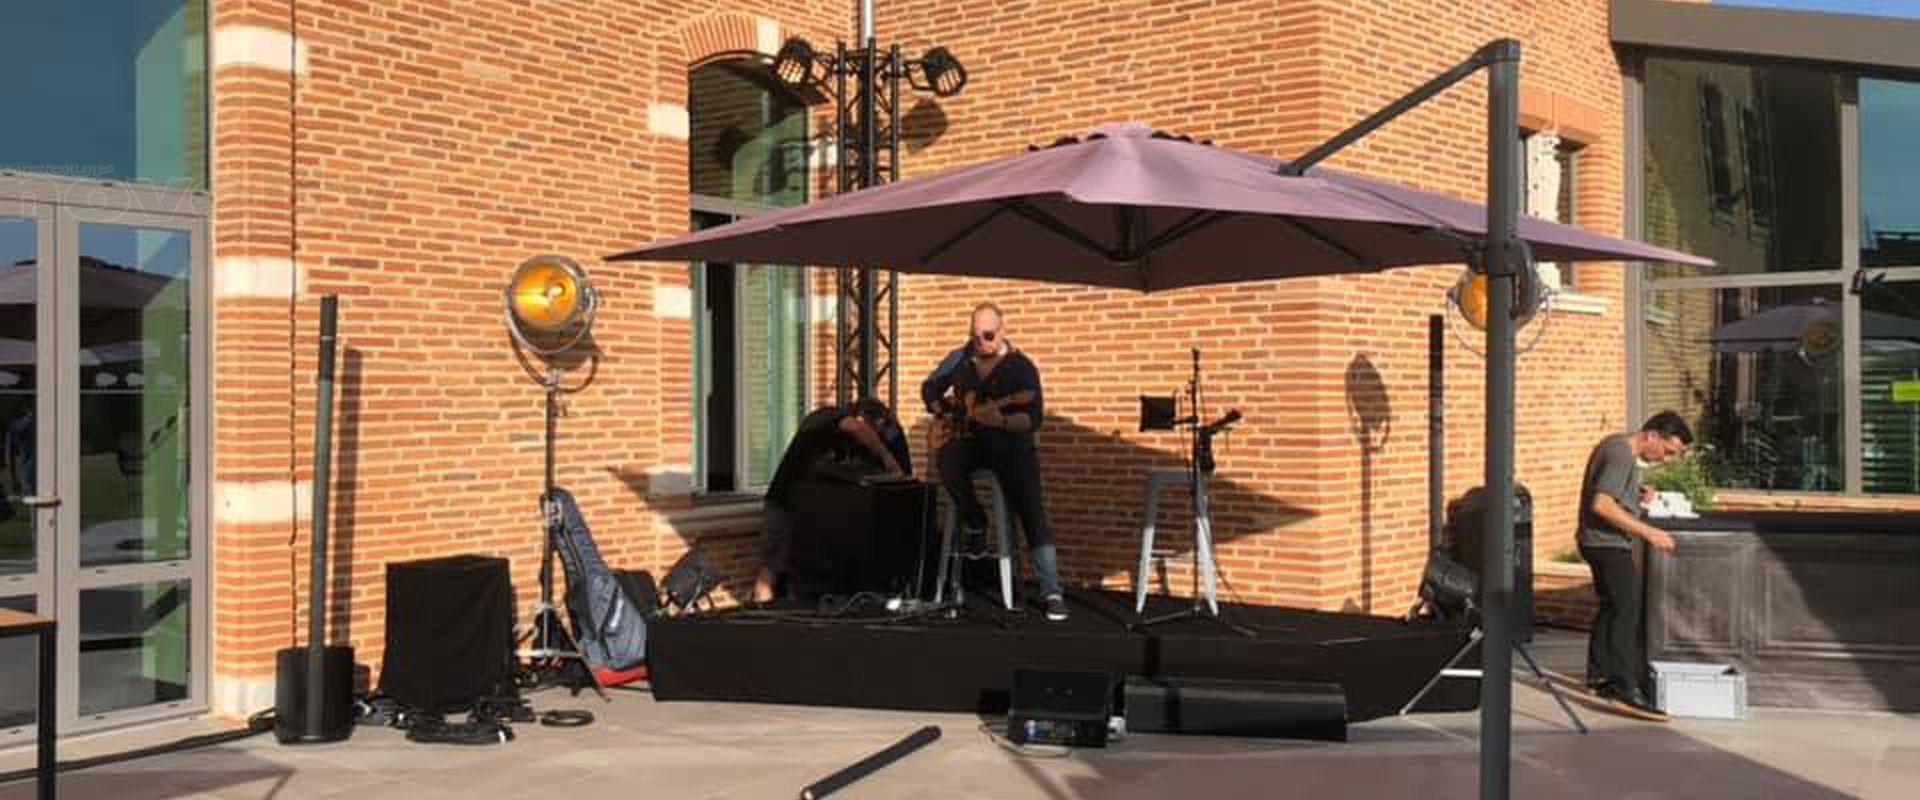
<svg viewBox="0 0 1920 800">
<path fill-rule="evenodd" d="M 599 294 L 588 284 L 586 272 L 572 261 L 557 255 L 540 255 L 524 261 L 507 284 L 507 332 L 526 351 L 545 361 L 545 370 L 536 372 L 530 363 L 522 366 L 534 374 L 545 389 L 545 472 L 540 493 L 540 514 L 543 535 L 540 541 L 540 600 L 534 604 L 526 633 L 516 639 L 520 647 L 515 654 L 536 671 L 561 670 L 566 660 L 576 660 L 593 683 L 601 700 L 609 700 L 599 675 L 580 652 L 559 608 L 553 604 L 553 543 L 572 547 L 561 529 L 559 505 L 553 503 L 555 480 L 555 441 L 559 439 L 561 418 L 561 368 L 553 363 L 578 345 L 593 326 L 593 313 L 599 307 Z"/>
</svg>

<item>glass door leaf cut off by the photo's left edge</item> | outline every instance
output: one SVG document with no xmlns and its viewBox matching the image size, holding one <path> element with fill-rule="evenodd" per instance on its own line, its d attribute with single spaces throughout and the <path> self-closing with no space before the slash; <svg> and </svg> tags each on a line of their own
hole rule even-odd
<svg viewBox="0 0 1920 800">
<path fill-rule="evenodd" d="M 0 200 L 0 608 L 54 599 L 54 211 Z M 35 639 L 0 641 L 0 744 L 35 731 Z"/>
</svg>

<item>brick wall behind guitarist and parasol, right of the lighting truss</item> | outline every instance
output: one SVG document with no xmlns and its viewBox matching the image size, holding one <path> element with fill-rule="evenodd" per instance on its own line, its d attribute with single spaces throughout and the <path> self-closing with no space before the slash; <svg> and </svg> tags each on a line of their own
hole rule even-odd
<svg viewBox="0 0 1920 800">
<path fill-rule="evenodd" d="M 1576 223 L 1619 234 L 1620 75 L 1597 0 L 881 4 L 881 40 L 931 44 L 970 67 L 939 100 L 947 127 L 908 175 L 1020 152 L 1106 121 L 1142 121 L 1219 146 L 1290 155 L 1446 69 L 1476 46 L 1526 46 L 1523 113 L 1586 144 Z M 1478 198 L 1484 79 L 1394 121 L 1332 161 Z M 931 100 L 922 100 L 931 102 Z M 933 136 L 937 134 L 937 136 Z M 1284 259 L 1284 253 L 1275 253 Z M 1306 278 L 1140 297 L 1123 292 L 910 278 L 902 374 L 958 341 L 979 299 L 1008 307 L 1041 365 L 1046 497 L 1069 579 L 1123 583 L 1140 474 L 1179 462 L 1177 437 L 1137 434 L 1135 395 L 1181 386 L 1202 347 L 1212 412 L 1248 422 L 1221 443 L 1221 568 L 1250 600 L 1402 612 L 1425 560 L 1427 315 L 1457 267 Z M 1580 272 L 1601 315 L 1555 315 L 1521 361 L 1519 480 L 1538 505 L 1536 556 L 1571 547 L 1586 451 L 1624 428 L 1620 271 Z M 1480 483 L 1482 363 L 1448 343 L 1448 497 Z M 910 420 L 914 424 L 914 420 Z M 1179 520 L 1164 518 L 1162 531 Z M 1185 581 L 1175 577 L 1175 587 Z"/>
</svg>

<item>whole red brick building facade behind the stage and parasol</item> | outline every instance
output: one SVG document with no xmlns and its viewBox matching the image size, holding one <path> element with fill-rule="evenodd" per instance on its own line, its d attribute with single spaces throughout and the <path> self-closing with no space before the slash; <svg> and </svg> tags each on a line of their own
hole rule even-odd
<svg viewBox="0 0 1920 800">
<path fill-rule="evenodd" d="M 591 382 L 566 397 L 561 420 L 559 483 L 580 497 L 609 560 L 659 572 L 701 543 L 726 564 L 728 591 L 739 591 L 756 566 L 753 487 L 791 432 L 781 426 L 833 397 L 831 282 L 599 259 L 685 232 L 701 213 L 722 221 L 829 186 L 820 144 L 829 107 L 780 96 L 764 71 L 789 36 L 851 38 L 854 6 L 175 6 L 177 19 L 156 31 L 175 31 L 167 36 L 184 52 L 177 88 L 186 100 L 175 104 L 186 132 L 161 150 L 184 155 L 157 173 L 140 161 L 132 176 L 138 184 L 152 173 L 148 184 L 165 186 L 100 200 L 71 173 L 6 167 L 19 173 L 8 186 L 40 186 L 29 200 L 52 226 L 86 209 L 165 211 L 163 226 L 194 242 L 190 280 L 179 280 L 192 297 L 192 374 L 204 393 L 186 409 L 192 437 L 169 451 L 188 464 L 177 480 L 192 522 L 173 535 L 190 556 L 169 574 L 119 577 L 184 587 L 179 618 L 156 629 L 177 639 L 171 664 L 186 666 L 161 681 L 179 689 L 102 706 L 123 712 L 98 723 L 271 704 L 273 652 L 303 639 L 315 338 L 326 294 L 342 297 L 332 631 L 359 660 L 380 662 L 388 562 L 501 554 L 513 560 L 522 608 L 534 595 L 543 405 L 503 326 L 501 290 L 538 253 L 580 261 L 605 297 Z M 908 54 L 947 46 L 970 71 L 966 92 L 912 102 L 904 176 L 1112 121 L 1284 157 L 1486 40 L 1515 36 L 1526 48 L 1523 125 L 1536 132 L 1530 175 L 1549 188 L 1536 198 L 1553 198 L 1530 209 L 1624 232 L 1622 65 L 1603 0 L 876 6 L 881 42 Z M 1469 81 L 1332 165 L 1478 198 L 1482 102 L 1484 79 Z M 148 125 L 144 113 L 134 117 Z M 40 155 L 0 150 L 0 165 L 33 159 Z M 1210 407 L 1246 414 L 1219 449 L 1227 597 L 1392 616 L 1411 602 L 1425 562 L 1427 318 L 1446 311 L 1457 274 L 1428 267 L 1152 297 L 902 278 L 902 412 L 910 426 L 922 422 L 910 399 L 958 343 L 966 309 L 983 299 L 1006 307 L 1014 341 L 1048 388 L 1043 462 L 1062 572 L 1071 583 L 1123 585 L 1144 470 L 1181 459 L 1169 434 L 1135 432 L 1137 395 L 1175 391 L 1200 347 Z M 1536 501 L 1542 562 L 1571 547 L 1588 449 L 1634 422 L 1622 288 L 1619 265 L 1563 272 L 1571 297 L 1534 322 L 1546 332 L 1521 359 L 1519 480 Z M 720 322 L 716 297 L 733 303 Z M 728 341 L 712 338 L 716 324 L 733 326 Z M 768 326 L 785 334 L 762 334 Z M 722 365 L 732 384 L 710 363 L 724 345 L 733 347 Z M 1457 497 L 1480 476 L 1480 363 L 1457 338 L 1446 359 L 1446 493 Z M 699 422 L 693 399 L 714 391 L 733 395 L 730 443 L 712 439 L 712 420 Z M 75 460 L 90 453 L 77 447 Z M 718 480 L 716 462 L 733 474 Z M 1162 520 L 1164 529 L 1173 524 Z M 42 568 L 21 595 L 81 608 L 56 583 L 84 558 L 63 556 L 48 537 L 29 541 Z M 1171 583 L 1187 585 L 1179 568 Z M 79 693 L 63 700 L 75 721 L 94 719 L 86 689 L 69 693 Z"/>
</svg>

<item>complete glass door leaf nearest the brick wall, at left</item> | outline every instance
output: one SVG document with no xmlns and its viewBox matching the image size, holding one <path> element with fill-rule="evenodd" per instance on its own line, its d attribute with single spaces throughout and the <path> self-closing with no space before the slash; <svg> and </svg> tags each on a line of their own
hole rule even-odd
<svg viewBox="0 0 1920 800">
<path fill-rule="evenodd" d="M 204 706 L 196 217 L 58 215 L 61 729 Z M 69 727 L 71 725 L 71 727 Z"/>
</svg>

